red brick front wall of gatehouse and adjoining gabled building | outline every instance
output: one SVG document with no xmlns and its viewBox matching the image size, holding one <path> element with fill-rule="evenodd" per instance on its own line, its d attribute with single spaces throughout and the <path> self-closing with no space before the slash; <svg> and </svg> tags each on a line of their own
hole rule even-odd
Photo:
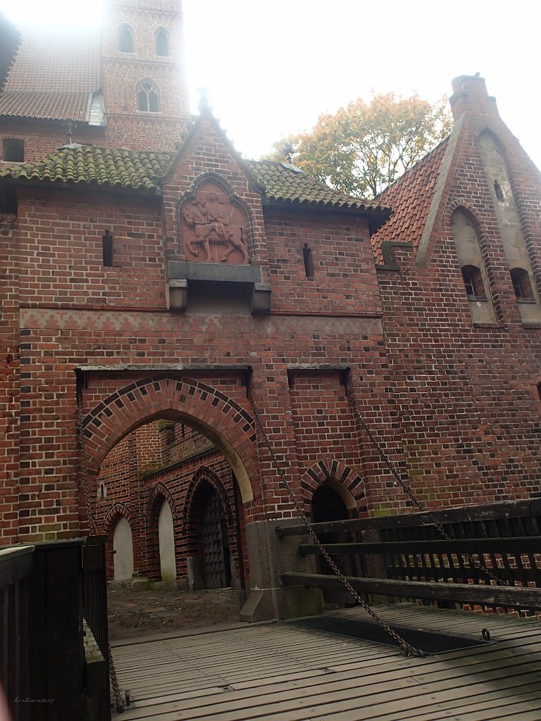
<svg viewBox="0 0 541 721">
<path fill-rule="evenodd" d="M 247 399 L 245 366 L 252 368 L 260 419 L 307 508 L 333 468 L 348 479 L 359 509 L 411 505 L 348 407 L 340 368 L 349 369 L 374 437 L 429 507 L 537 492 L 540 329 L 525 328 L 516 312 L 484 171 L 467 137 L 423 264 L 397 248 L 399 270 L 374 270 L 362 219 L 268 206 L 263 212 L 250 178 L 206 115 L 163 200 L 105 190 L 21 191 L 18 247 L 6 246 L 19 254 L 12 260 L 8 253 L 6 262 L 21 269 L 20 443 L 19 450 L 8 446 L 6 461 L 17 464 L 20 451 L 21 538 L 87 528 L 76 453 L 77 366 L 86 368 L 92 497 L 107 452 L 159 417 L 190 425 L 221 448 L 236 468 L 247 522 L 293 516 Z M 516 146 L 509 154 L 539 277 L 535 177 Z M 164 307 L 164 256 L 182 258 L 178 202 L 203 172 L 219 174 L 244 204 L 252 263 L 272 285 L 268 316 L 252 317 L 247 306 L 224 309 L 219 288 L 205 312 L 190 310 L 189 301 L 184 315 Z M 472 326 L 449 229 L 457 203 L 479 219 L 495 327 Z M 118 244 L 119 268 L 101 267 L 105 229 Z M 305 243 L 314 280 L 304 273 Z M 8 336 L 17 321 L 10 322 Z M 138 493 L 142 513 L 146 490 Z"/>
</svg>

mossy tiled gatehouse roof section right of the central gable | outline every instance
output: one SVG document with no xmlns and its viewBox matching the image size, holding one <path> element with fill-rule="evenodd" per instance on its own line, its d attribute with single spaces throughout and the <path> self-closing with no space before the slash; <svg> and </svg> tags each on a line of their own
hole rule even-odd
<svg viewBox="0 0 541 721">
<path fill-rule="evenodd" d="M 334 208 L 358 208 L 363 210 L 387 211 L 379 200 L 362 200 L 338 190 L 307 175 L 302 170 L 286 163 L 271 160 L 246 161 L 255 179 L 263 185 L 268 198 L 291 203 L 309 203 Z"/>
</svg>

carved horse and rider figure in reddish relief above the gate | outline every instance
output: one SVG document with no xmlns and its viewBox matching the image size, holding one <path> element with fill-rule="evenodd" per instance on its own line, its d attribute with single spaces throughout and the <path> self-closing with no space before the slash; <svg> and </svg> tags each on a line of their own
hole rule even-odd
<svg viewBox="0 0 541 721">
<path fill-rule="evenodd" d="M 186 237 L 189 252 L 199 256 L 199 248 L 203 248 L 203 260 L 211 261 L 211 243 L 226 246 L 221 262 L 226 262 L 229 255 L 238 250 L 245 262 L 248 253 L 245 246 L 242 228 L 231 226 L 227 208 L 229 203 L 220 203 L 216 193 L 209 193 L 206 201 L 193 199 L 182 208 L 188 227 L 193 229 L 195 237 Z"/>
</svg>

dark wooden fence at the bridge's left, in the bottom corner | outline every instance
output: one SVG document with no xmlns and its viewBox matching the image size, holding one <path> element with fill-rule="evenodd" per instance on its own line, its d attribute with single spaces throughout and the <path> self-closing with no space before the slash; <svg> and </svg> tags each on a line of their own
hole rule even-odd
<svg viewBox="0 0 541 721">
<path fill-rule="evenodd" d="M 103 541 L 0 550 L 0 680 L 14 721 L 110 720 Z"/>
</svg>

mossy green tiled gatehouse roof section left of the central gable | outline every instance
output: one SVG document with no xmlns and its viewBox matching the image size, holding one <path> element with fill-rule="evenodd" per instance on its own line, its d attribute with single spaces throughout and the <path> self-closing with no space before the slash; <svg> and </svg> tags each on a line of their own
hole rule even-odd
<svg viewBox="0 0 541 721">
<path fill-rule="evenodd" d="M 157 190 L 157 180 L 166 172 L 171 158 L 169 153 L 107 150 L 74 144 L 51 153 L 40 162 L 18 163 L 2 168 L 0 178 L 97 183 L 132 190 Z"/>
</svg>

